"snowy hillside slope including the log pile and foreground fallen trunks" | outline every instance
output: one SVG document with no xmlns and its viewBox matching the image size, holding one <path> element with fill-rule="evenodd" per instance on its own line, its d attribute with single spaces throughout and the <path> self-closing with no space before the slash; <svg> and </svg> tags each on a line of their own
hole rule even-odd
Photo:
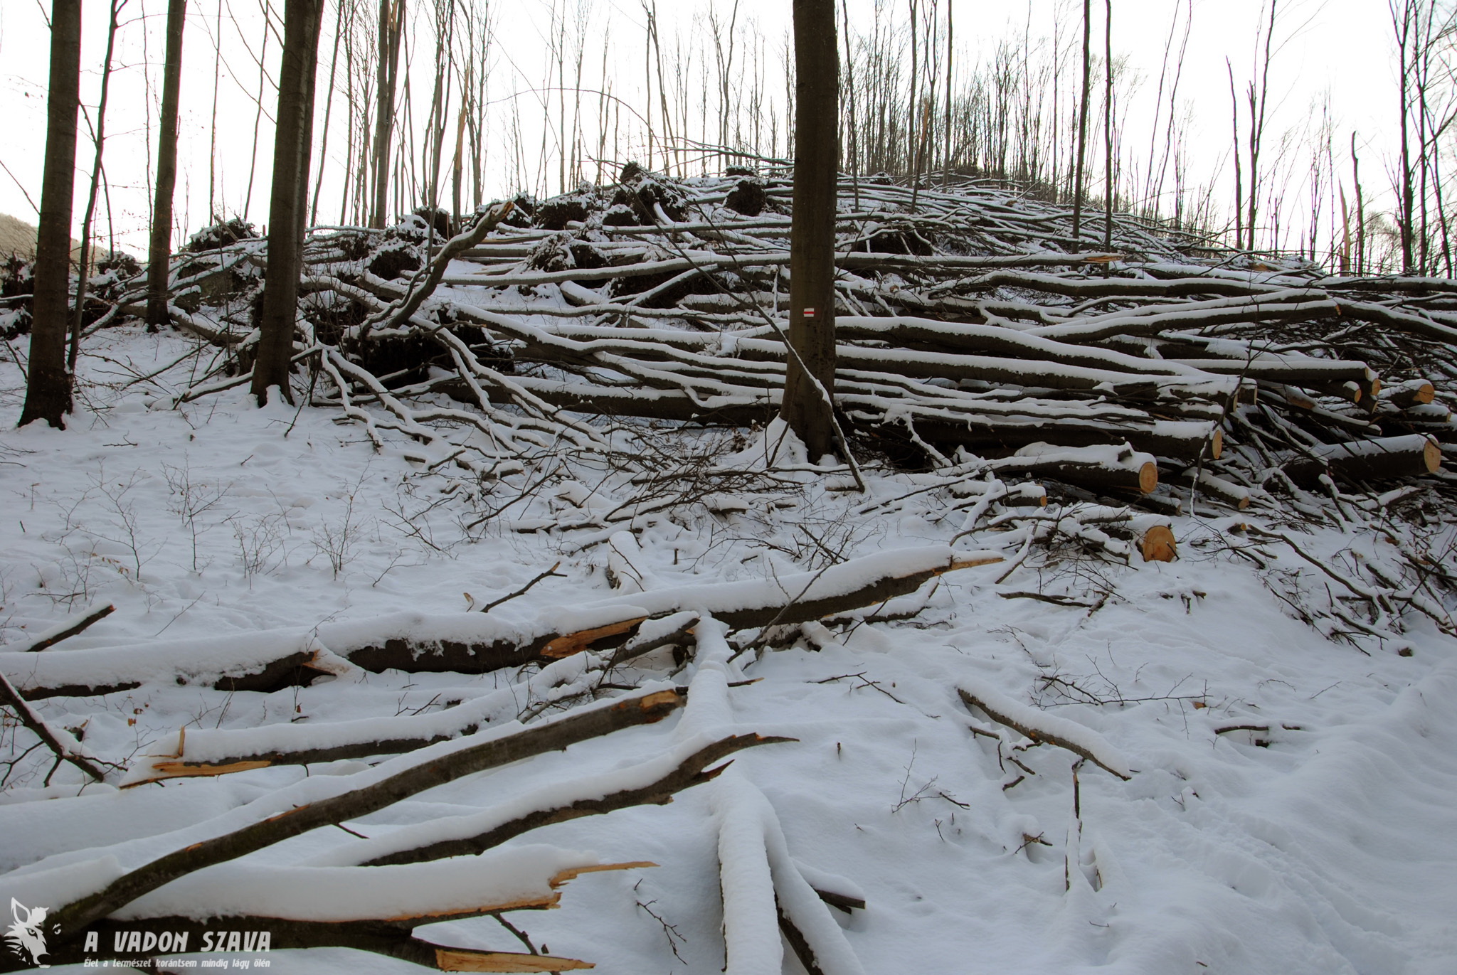
<svg viewBox="0 0 1457 975">
<path fill-rule="evenodd" d="M 58 966 L 92 911 L 286 972 L 1451 971 L 1457 284 L 845 181 L 847 465 L 774 418 L 787 197 L 315 233 L 293 404 L 261 240 L 173 331 L 106 291 L 67 431 L 7 354 L 0 675 L 79 761 L 6 724 L 0 896 Z"/>
</svg>

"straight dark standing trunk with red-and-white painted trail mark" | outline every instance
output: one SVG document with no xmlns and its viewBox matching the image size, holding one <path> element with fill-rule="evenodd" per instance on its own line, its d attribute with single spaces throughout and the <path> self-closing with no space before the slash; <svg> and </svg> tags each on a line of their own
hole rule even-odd
<svg viewBox="0 0 1457 975">
<path fill-rule="evenodd" d="M 832 450 L 835 388 L 835 184 L 839 48 L 835 0 L 794 0 L 794 224 L 790 357 L 781 415 L 812 459 Z"/>
</svg>

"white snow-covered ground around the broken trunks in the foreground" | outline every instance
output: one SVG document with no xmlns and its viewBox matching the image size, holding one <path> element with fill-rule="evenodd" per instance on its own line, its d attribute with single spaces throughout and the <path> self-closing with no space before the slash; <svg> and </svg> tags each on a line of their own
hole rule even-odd
<svg viewBox="0 0 1457 975">
<path fill-rule="evenodd" d="M 149 408 L 185 380 L 195 342 L 140 328 L 92 341 L 64 433 L 13 430 L 22 379 L 9 356 L 0 364 L 0 641 L 22 643 L 93 603 L 117 606 L 48 654 L 399 611 L 459 614 L 559 563 L 564 577 L 492 611 L 529 621 L 622 592 L 777 579 L 823 567 L 830 552 L 946 545 L 962 526 L 931 494 L 857 513 L 863 496 L 826 490 L 842 488 L 842 475 L 791 474 L 777 506 L 763 494 L 747 510 L 708 497 L 638 523 L 634 544 L 590 525 L 593 512 L 621 500 L 597 493 L 593 478 L 603 472 L 568 468 L 476 523 L 513 494 L 472 501 L 393 446 L 376 452 L 334 410 L 258 410 L 243 389 Z M 169 363 L 159 380 L 141 379 Z M 707 452 L 718 436 L 682 449 Z M 753 437 L 724 437 L 715 449 L 745 458 L 753 447 Z M 870 488 L 890 498 L 914 485 L 871 472 Z M 551 512 L 584 526 L 526 530 Z M 949 573 L 927 587 L 912 619 L 810 627 L 788 647 L 731 663 L 704 644 L 682 667 L 656 651 L 615 679 L 683 685 L 711 663 L 734 678 L 727 710 L 691 695 L 688 710 L 661 724 L 469 775 L 350 829 L 376 838 L 479 813 L 661 756 L 691 732 L 731 721 L 797 740 L 739 753 L 734 772 L 672 804 L 557 823 L 508 844 L 659 864 L 583 874 L 564 888 L 559 909 L 508 915 L 538 947 L 600 972 L 720 971 L 720 822 L 747 780 L 806 876 L 835 874 L 864 893 L 864 911 L 835 917 L 865 972 L 1457 972 L 1457 641 L 1421 616 L 1407 621 L 1405 647 L 1327 640 L 1294 618 L 1291 603 L 1329 580 L 1289 549 L 1256 568 L 1230 551 L 1225 528 L 1176 519 L 1174 563 L 1043 560 L 1001 584 L 997 565 Z M 1321 555 L 1378 544 L 1333 529 L 1303 539 Z M 957 545 L 998 548 L 998 539 L 979 532 Z M 740 684 L 740 673 L 755 682 Z M 179 727 L 431 713 L 507 686 L 527 698 L 504 717 L 535 714 L 542 708 L 530 695 L 551 691 L 520 684 L 526 676 L 386 672 L 274 694 L 152 682 L 47 698 L 36 710 L 54 726 L 85 726 L 86 748 L 127 764 L 175 742 Z M 1075 784 L 1077 755 L 1029 748 L 969 710 L 959 688 L 1096 733 L 1084 736 L 1134 774 L 1123 781 L 1087 762 Z M 1263 730 L 1221 732 L 1233 726 Z M 7 720 L 0 756 L 31 740 Z M 50 768 L 36 752 L 0 791 L 0 904 L 13 890 L 25 890 L 26 904 L 44 896 L 45 879 L 35 876 L 44 869 L 95 860 L 103 848 L 122 864 L 144 860 L 211 835 L 210 822 L 272 790 L 367 767 L 262 768 L 122 791 L 83 788 L 70 767 L 45 787 Z M 350 861 L 347 847 L 358 842 L 342 829 L 288 839 L 220 873 L 216 883 L 232 886 L 213 895 L 249 904 L 248 864 L 288 866 L 299 890 L 328 890 L 322 880 L 307 886 L 310 863 Z M 170 901 L 205 898 L 197 880 L 175 883 Z M 166 888 L 152 896 L 169 902 Z M 417 934 L 522 950 L 491 918 Z M 801 971 L 793 952 L 782 956 L 784 972 Z M 281 972 L 418 971 L 344 949 L 272 952 L 271 960 Z"/>
</svg>

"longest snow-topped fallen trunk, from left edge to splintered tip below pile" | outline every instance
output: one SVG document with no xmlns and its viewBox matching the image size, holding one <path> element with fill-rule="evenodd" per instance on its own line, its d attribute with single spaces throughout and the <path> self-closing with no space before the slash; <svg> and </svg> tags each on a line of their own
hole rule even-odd
<svg viewBox="0 0 1457 975">
<path fill-rule="evenodd" d="M 203 644 L 170 641 L 54 654 L 0 653 L 0 673 L 22 681 L 22 692 L 32 698 L 93 697 L 134 689 L 147 681 L 267 692 L 307 684 L 348 665 L 373 672 L 484 673 L 589 649 L 618 647 L 635 637 L 644 621 L 676 614 L 685 606 L 707 609 L 733 630 L 806 622 L 874 606 L 915 592 L 941 573 L 995 561 L 1001 561 L 997 552 L 909 548 L 775 582 L 682 586 L 573 609 L 549 608 L 529 624 L 478 612 L 393 614 Z"/>
</svg>

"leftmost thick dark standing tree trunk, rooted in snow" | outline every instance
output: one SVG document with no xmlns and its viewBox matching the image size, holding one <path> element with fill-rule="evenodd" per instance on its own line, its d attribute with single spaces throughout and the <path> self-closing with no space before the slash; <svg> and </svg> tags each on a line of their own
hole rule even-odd
<svg viewBox="0 0 1457 975">
<path fill-rule="evenodd" d="M 80 111 L 82 3 L 51 3 L 51 77 L 45 99 L 45 176 L 41 182 L 39 233 L 35 242 L 35 297 L 31 370 L 20 426 L 45 420 L 66 428 L 71 376 L 66 372 L 66 321 L 70 310 L 71 192 L 76 179 L 76 115 Z"/>
</svg>

